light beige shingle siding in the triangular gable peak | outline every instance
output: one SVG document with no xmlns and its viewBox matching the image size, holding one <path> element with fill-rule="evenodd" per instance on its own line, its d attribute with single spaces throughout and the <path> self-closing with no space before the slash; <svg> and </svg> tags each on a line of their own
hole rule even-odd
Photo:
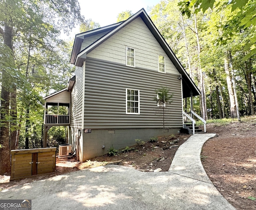
<svg viewBox="0 0 256 210">
<path fill-rule="evenodd" d="M 158 71 L 158 54 L 166 57 L 166 72 L 179 74 L 143 20 L 138 17 L 100 44 L 87 57 L 126 64 L 126 46 L 135 48 L 135 65 Z"/>
</svg>

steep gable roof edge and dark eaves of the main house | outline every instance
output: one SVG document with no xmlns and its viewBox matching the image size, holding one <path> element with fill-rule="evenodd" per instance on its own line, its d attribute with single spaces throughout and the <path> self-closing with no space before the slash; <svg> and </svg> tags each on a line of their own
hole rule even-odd
<svg viewBox="0 0 256 210">
<path fill-rule="evenodd" d="M 146 11 L 144 10 L 144 8 L 142 8 L 141 10 L 136 12 L 133 16 L 131 16 L 130 18 L 128 18 L 125 21 L 122 21 L 122 22 L 119 22 L 116 24 L 112 24 L 109 26 L 105 26 L 102 28 L 98 28 L 95 30 L 91 30 L 88 32 L 76 34 L 70 62 L 72 64 L 75 64 L 75 66 L 82 67 L 83 62 L 86 59 L 86 54 L 88 54 L 89 52 L 94 50 L 96 47 L 98 47 L 100 44 L 102 44 L 104 41 L 106 41 L 108 38 L 110 38 L 112 35 L 114 35 L 116 32 L 118 32 L 120 29 L 127 26 L 130 22 L 132 22 L 133 20 L 135 20 L 138 17 L 140 17 L 144 21 L 144 23 L 146 24 L 146 26 L 148 27 L 150 32 L 156 38 L 156 40 L 158 41 L 158 43 L 160 44 L 160 46 L 162 47 L 164 52 L 167 54 L 167 56 L 170 58 L 170 60 L 174 64 L 174 66 L 177 68 L 178 72 L 181 74 L 183 98 L 190 97 L 191 94 L 193 96 L 200 95 L 200 91 L 198 90 L 197 86 L 194 84 L 192 79 L 189 77 L 188 73 L 183 68 L 182 64 L 180 63 L 180 61 L 178 60 L 178 58 L 176 57 L 174 52 L 172 52 L 172 49 L 167 44 L 167 42 L 164 40 L 163 36 L 160 34 L 158 29 L 156 28 L 156 26 L 154 25 L 154 23 L 152 22 L 152 20 L 146 13 Z M 106 34 L 104 36 L 100 37 L 98 40 L 96 40 L 92 44 L 90 44 L 84 50 L 79 52 L 79 50 L 81 49 L 82 41 L 85 37 L 91 36 L 94 34 L 99 34 L 102 32 L 106 32 Z"/>
</svg>

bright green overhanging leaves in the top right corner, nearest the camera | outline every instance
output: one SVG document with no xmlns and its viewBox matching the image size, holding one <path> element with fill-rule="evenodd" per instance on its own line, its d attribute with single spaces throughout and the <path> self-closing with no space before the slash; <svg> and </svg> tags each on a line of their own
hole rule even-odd
<svg viewBox="0 0 256 210">
<path fill-rule="evenodd" d="M 254 0 L 183 0 L 179 2 L 180 11 L 182 14 L 191 16 L 194 8 L 195 12 L 202 10 L 206 12 L 208 9 L 218 8 L 218 12 L 230 7 L 230 13 L 227 15 L 227 20 L 222 22 L 220 28 L 223 29 L 223 37 L 220 41 L 226 42 L 227 39 L 232 39 L 234 34 L 241 30 L 248 30 L 256 26 L 256 1 Z M 223 40 L 224 38 L 224 40 Z M 244 56 L 244 60 L 251 58 L 256 54 L 256 35 L 251 34 L 250 40 L 244 48 L 245 51 L 249 51 Z"/>
</svg>

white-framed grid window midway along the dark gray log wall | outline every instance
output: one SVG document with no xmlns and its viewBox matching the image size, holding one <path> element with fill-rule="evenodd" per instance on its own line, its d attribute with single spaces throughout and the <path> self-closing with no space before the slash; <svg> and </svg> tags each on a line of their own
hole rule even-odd
<svg viewBox="0 0 256 210">
<path fill-rule="evenodd" d="M 140 90 L 126 88 L 126 114 L 140 114 Z"/>
</svg>

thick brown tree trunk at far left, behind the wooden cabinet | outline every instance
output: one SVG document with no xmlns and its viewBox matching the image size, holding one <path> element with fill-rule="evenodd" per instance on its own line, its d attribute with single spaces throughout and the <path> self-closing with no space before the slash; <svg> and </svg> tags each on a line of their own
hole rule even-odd
<svg viewBox="0 0 256 210">
<path fill-rule="evenodd" d="M 8 23 L 4 24 L 4 44 L 12 50 L 12 27 Z M 0 175 L 4 173 L 10 174 L 10 142 L 9 142 L 9 121 L 6 116 L 10 114 L 10 78 L 5 70 L 2 71 L 2 90 L 1 90 L 1 121 L 2 127 L 0 129 Z"/>
</svg>

